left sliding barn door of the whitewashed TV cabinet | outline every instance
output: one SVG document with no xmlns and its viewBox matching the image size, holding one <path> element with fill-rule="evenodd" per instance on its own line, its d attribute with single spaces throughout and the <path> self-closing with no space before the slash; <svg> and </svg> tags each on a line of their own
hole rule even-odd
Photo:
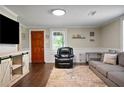
<svg viewBox="0 0 124 93">
<path fill-rule="evenodd" d="M 7 86 L 12 79 L 12 60 L 5 58 L 1 60 L 0 64 L 0 86 Z"/>
</svg>

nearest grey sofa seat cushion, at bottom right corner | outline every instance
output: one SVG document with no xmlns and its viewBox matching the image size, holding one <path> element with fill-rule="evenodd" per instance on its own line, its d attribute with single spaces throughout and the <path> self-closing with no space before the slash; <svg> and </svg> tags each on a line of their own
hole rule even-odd
<svg viewBox="0 0 124 93">
<path fill-rule="evenodd" d="M 117 85 L 124 87 L 124 72 L 108 72 L 108 78 Z"/>
</svg>

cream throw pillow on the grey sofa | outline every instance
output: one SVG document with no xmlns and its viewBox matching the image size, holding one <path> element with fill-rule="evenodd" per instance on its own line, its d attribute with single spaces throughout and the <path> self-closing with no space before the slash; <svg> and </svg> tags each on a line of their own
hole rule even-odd
<svg viewBox="0 0 124 93">
<path fill-rule="evenodd" d="M 117 63 L 117 54 L 104 54 L 103 63 L 116 65 L 116 63 Z"/>
</svg>

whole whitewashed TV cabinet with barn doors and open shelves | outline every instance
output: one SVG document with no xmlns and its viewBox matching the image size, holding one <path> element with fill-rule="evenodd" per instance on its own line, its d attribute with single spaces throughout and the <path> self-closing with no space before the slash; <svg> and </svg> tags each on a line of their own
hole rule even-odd
<svg viewBox="0 0 124 93">
<path fill-rule="evenodd" d="M 29 72 L 29 53 L 0 56 L 0 87 L 12 86 Z"/>
</svg>

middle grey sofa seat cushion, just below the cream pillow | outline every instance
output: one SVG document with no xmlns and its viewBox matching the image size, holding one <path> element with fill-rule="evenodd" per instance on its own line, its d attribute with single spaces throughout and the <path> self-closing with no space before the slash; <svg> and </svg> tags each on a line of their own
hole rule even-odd
<svg viewBox="0 0 124 93">
<path fill-rule="evenodd" d="M 96 69 L 106 77 L 108 72 L 110 71 L 124 71 L 124 67 L 121 67 L 119 65 L 109 65 L 109 64 L 97 65 Z"/>
</svg>

